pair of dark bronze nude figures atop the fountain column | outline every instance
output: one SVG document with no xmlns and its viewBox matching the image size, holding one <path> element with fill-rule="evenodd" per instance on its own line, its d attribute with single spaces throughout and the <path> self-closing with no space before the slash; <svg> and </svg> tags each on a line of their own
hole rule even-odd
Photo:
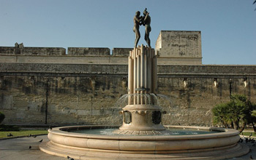
<svg viewBox="0 0 256 160">
<path fill-rule="evenodd" d="M 133 18 L 133 22 L 135 23 L 133 27 L 133 31 L 135 32 L 135 47 L 137 47 L 137 44 L 140 40 L 140 25 L 145 26 L 144 39 L 147 42 L 148 47 L 151 47 L 149 39 L 149 33 L 151 31 L 151 17 L 149 16 L 149 12 L 147 11 L 147 9 L 144 10 L 143 16 L 140 16 L 140 11 L 137 11 L 135 17 Z"/>
</svg>

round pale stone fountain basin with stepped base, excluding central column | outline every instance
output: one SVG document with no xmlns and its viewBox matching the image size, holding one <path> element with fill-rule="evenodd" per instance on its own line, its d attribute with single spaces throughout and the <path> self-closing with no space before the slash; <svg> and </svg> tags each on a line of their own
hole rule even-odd
<svg viewBox="0 0 256 160">
<path fill-rule="evenodd" d="M 197 135 L 96 135 L 69 132 L 103 126 L 56 127 L 48 130 L 41 151 L 74 159 L 228 159 L 249 152 L 235 129 L 165 126 L 214 131 Z"/>
</svg>

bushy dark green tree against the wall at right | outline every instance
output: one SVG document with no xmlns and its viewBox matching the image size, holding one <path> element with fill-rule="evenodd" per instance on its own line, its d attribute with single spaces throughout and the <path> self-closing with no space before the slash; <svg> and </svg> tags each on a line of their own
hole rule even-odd
<svg viewBox="0 0 256 160">
<path fill-rule="evenodd" d="M 214 124 L 240 128 L 240 132 L 243 132 L 247 124 L 251 124 L 256 132 L 256 105 L 247 100 L 245 95 L 232 95 L 230 102 L 214 106 L 212 113 Z"/>
</svg>

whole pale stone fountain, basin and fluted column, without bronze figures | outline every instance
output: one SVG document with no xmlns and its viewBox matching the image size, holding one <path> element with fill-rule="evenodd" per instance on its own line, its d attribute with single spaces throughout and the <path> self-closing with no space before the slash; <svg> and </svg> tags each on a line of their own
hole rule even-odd
<svg viewBox="0 0 256 160">
<path fill-rule="evenodd" d="M 156 105 L 157 55 L 151 47 L 135 47 L 129 54 L 128 105 L 122 108 L 123 125 L 113 134 L 77 133 L 104 126 L 56 127 L 48 130 L 41 151 L 74 159 L 227 159 L 249 152 L 238 143 L 235 129 L 163 126 Z M 204 135 L 171 135 L 168 128 L 208 130 Z M 215 132 L 211 132 L 215 131 Z"/>
</svg>

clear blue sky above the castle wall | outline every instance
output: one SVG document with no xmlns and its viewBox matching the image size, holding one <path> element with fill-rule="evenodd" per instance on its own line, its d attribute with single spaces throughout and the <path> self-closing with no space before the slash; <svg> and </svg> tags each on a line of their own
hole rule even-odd
<svg viewBox="0 0 256 160">
<path fill-rule="evenodd" d="M 256 65 L 254 0 L 0 0 L 0 46 L 133 47 L 133 17 L 161 30 L 201 31 L 203 64 Z M 140 28 L 143 40 L 144 28 Z"/>
</svg>

